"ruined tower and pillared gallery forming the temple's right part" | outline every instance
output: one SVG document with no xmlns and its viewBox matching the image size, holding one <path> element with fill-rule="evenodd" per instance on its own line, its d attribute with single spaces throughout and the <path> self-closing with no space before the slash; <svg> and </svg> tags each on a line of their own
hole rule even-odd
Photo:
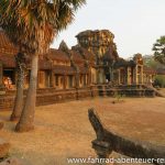
<svg viewBox="0 0 165 165">
<path fill-rule="evenodd" d="M 119 57 L 114 35 L 108 31 L 85 31 L 76 35 L 78 45 L 95 54 L 97 84 L 111 81 L 116 85 L 147 84 L 155 73 L 144 69 L 141 54 L 132 61 Z"/>
</svg>

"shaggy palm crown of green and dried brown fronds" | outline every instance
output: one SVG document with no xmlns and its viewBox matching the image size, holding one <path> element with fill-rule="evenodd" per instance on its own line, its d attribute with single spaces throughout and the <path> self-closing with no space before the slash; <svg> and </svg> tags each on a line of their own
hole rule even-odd
<svg viewBox="0 0 165 165">
<path fill-rule="evenodd" d="M 0 26 L 16 45 L 44 53 L 85 0 L 0 0 Z"/>
</svg>

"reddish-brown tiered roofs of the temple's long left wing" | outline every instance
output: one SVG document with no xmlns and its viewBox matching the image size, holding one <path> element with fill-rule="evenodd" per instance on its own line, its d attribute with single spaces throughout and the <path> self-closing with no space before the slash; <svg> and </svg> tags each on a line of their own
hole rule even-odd
<svg viewBox="0 0 165 165">
<path fill-rule="evenodd" d="M 38 68 L 54 69 L 54 72 L 57 74 L 75 74 L 76 69 L 73 66 L 68 66 L 70 64 L 70 61 L 73 61 L 75 65 L 78 66 L 81 74 L 87 73 L 87 68 L 85 67 L 86 59 L 90 63 L 90 61 L 94 61 L 94 55 L 90 55 L 88 51 L 82 50 L 82 53 L 85 55 L 84 58 L 84 56 L 79 52 L 75 50 L 68 50 L 69 54 L 72 55 L 70 56 L 69 54 L 67 54 L 67 52 L 62 50 L 67 48 L 64 47 L 67 46 L 64 44 L 65 43 L 61 45 L 59 50 L 50 48 L 50 52 L 47 54 L 41 56 Z M 0 31 L 0 61 L 6 68 L 15 67 L 14 55 L 16 55 L 18 52 L 18 48 L 10 42 L 4 32 Z M 54 61 L 56 61 L 57 63 L 54 64 Z M 31 62 L 31 57 L 29 57 L 29 62 Z M 64 65 L 62 65 L 61 62 L 64 63 Z"/>
</svg>

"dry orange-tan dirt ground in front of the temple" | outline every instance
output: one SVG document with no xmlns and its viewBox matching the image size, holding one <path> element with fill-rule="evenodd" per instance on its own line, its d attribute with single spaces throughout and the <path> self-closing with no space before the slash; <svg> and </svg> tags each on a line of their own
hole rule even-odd
<svg viewBox="0 0 165 165">
<path fill-rule="evenodd" d="M 88 108 L 95 108 L 112 131 L 165 145 L 165 98 L 95 98 L 36 108 L 35 130 L 15 133 L 10 112 L 0 112 L 4 128 L 0 136 L 11 143 L 11 156 L 26 165 L 67 165 L 68 157 L 96 156 L 91 148 L 95 132 L 88 121 Z"/>
</svg>

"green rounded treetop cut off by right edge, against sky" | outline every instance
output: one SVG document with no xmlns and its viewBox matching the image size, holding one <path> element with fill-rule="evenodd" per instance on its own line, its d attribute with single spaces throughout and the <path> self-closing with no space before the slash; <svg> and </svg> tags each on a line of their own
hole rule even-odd
<svg viewBox="0 0 165 165">
<path fill-rule="evenodd" d="M 165 65 L 165 35 L 156 41 L 153 45 L 153 51 L 155 59 Z"/>
</svg>

